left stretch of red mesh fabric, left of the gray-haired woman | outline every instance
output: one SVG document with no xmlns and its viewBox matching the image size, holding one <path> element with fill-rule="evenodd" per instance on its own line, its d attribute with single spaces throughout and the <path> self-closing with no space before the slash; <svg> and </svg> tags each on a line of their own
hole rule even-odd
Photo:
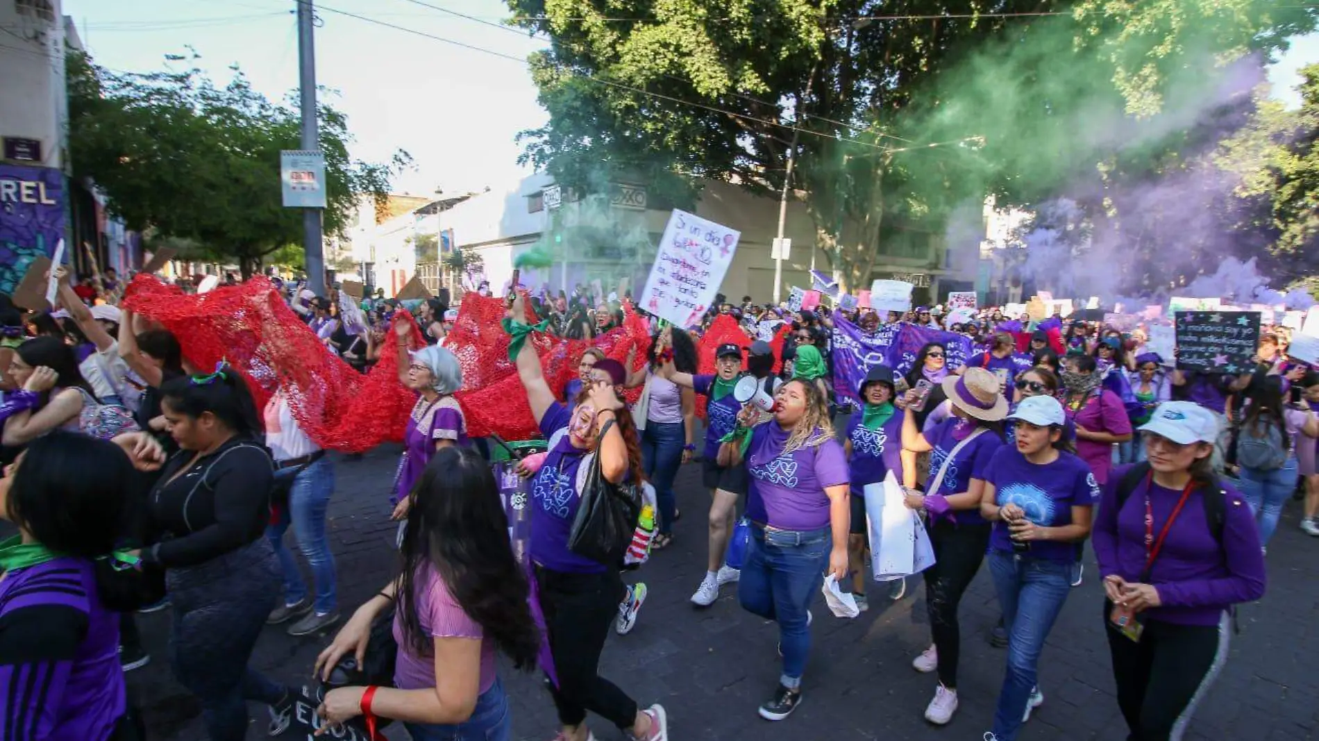
<svg viewBox="0 0 1319 741">
<path fill-rule="evenodd" d="M 330 352 L 265 278 L 189 295 L 137 276 L 123 306 L 173 332 L 194 367 L 210 370 L 227 360 L 248 380 L 259 410 L 282 385 L 298 426 L 323 448 L 363 452 L 402 439 L 417 397 L 398 382 L 393 332 L 380 363 L 363 376 Z M 413 332 L 421 343 L 421 331 Z"/>
</svg>

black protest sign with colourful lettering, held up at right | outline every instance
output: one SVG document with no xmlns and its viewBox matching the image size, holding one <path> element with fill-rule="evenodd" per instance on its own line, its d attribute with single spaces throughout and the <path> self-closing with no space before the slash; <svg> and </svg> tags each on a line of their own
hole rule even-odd
<svg viewBox="0 0 1319 741">
<path fill-rule="evenodd" d="M 1258 311 L 1178 311 L 1177 367 L 1200 373 L 1246 373 L 1260 347 Z"/>
</svg>

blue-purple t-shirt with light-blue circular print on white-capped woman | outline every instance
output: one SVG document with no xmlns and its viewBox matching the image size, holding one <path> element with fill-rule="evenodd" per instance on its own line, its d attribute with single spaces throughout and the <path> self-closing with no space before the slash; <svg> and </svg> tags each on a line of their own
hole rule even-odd
<svg viewBox="0 0 1319 741">
<path fill-rule="evenodd" d="M 1089 465 L 1070 454 L 1058 454 L 1058 460 L 1035 464 L 1026 460 L 1013 446 L 998 448 L 985 481 L 995 485 L 998 506 L 1014 504 L 1026 513 L 1026 519 L 1042 527 L 1071 525 L 1071 508 L 1095 506 L 1099 502 L 1099 484 Z M 989 547 L 1012 552 L 1012 538 L 1006 522 L 995 522 Z M 1076 545 L 1057 541 L 1030 543 L 1030 556 L 1071 563 L 1076 560 Z"/>
</svg>

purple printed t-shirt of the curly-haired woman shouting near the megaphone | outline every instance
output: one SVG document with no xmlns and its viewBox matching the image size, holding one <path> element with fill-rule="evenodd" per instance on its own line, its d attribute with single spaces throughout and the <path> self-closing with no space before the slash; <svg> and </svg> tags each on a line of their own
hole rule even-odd
<svg viewBox="0 0 1319 741">
<path fill-rule="evenodd" d="M 783 455 L 790 430 L 758 425 L 747 450 L 751 489 L 747 517 L 782 530 L 819 530 L 830 525 L 828 487 L 848 485 L 843 446 L 828 438 L 819 446 Z"/>
</svg>

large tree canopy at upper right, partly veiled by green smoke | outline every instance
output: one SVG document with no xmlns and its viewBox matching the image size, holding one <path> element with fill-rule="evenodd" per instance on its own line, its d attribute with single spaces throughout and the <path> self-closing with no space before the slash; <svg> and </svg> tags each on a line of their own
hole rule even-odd
<svg viewBox="0 0 1319 741">
<path fill-rule="evenodd" d="M 1070 195 L 1121 231 L 1130 214 L 1105 190 L 1202 154 L 1249 69 L 1232 62 L 1258 69 L 1319 15 L 1283 0 L 509 8 L 551 38 L 533 58 L 550 121 L 524 133 L 526 160 L 568 186 L 632 175 L 690 202 L 696 178 L 777 193 L 795 154 L 818 247 L 853 286 L 901 252 L 905 227 L 942 232 L 989 193 Z"/>
</svg>

